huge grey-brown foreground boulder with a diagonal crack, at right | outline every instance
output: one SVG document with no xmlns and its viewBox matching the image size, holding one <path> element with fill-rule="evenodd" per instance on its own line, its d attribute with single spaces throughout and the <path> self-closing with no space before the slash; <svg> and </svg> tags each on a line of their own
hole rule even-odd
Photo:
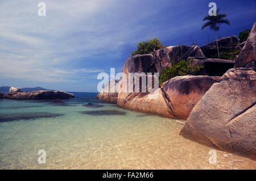
<svg viewBox="0 0 256 181">
<path fill-rule="evenodd" d="M 228 70 L 193 108 L 180 134 L 256 159 L 256 73 Z"/>
</svg>

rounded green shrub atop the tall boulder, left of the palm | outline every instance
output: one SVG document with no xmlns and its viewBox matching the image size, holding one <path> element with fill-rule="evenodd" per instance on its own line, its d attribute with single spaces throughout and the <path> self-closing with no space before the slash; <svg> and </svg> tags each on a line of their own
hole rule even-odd
<svg viewBox="0 0 256 181">
<path fill-rule="evenodd" d="M 160 42 L 160 40 L 158 40 L 157 37 L 155 37 L 153 40 L 147 40 L 147 41 L 143 41 L 140 42 L 137 45 L 137 50 L 135 50 L 134 52 L 131 52 L 131 56 L 134 56 L 135 54 L 148 54 L 148 53 L 152 53 L 154 50 L 158 50 L 163 48 L 164 46 L 162 45 L 162 43 Z"/>
</svg>

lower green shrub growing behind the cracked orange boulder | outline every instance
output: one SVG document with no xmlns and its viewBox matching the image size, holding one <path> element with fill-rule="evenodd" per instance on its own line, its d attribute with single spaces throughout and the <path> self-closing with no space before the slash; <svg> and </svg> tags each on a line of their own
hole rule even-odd
<svg viewBox="0 0 256 181">
<path fill-rule="evenodd" d="M 180 62 L 172 66 L 172 68 L 163 69 L 163 73 L 160 75 L 159 78 L 159 85 L 162 86 L 163 83 L 168 81 L 168 79 L 170 78 L 197 73 L 197 71 L 204 68 L 204 65 L 191 65 L 192 61 L 193 59 L 191 59 L 189 62 L 181 60 Z"/>
</svg>

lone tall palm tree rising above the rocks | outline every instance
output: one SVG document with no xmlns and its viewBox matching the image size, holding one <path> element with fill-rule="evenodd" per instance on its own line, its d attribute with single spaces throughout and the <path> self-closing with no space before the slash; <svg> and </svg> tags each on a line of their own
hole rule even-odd
<svg viewBox="0 0 256 181">
<path fill-rule="evenodd" d="M 216 16 L 205 16 L 203 21 L 208 20 L 208 22 L 204 23 L 204 25 L 202 26 L 202 30 L 204 30 L 205 27 L 210 27 L 210 30 L 213 30 L 215 32 L 215 38 L 216 38 L 216 43 L 217 43 L 217 50 L 218 50 L 218 41 L 217 41 L 217 31 L 220 30 L 220 24 L 222 23 L 226 23 L 228 25 L 230 25 L 229 20 L 226 19 L 226 14 L 218 14 L 218 11 L 220 9 L 217 10 L 217 14 Z M 220 58 L 220 52 L 218 51 L 218 58 Z"/>
</svg>

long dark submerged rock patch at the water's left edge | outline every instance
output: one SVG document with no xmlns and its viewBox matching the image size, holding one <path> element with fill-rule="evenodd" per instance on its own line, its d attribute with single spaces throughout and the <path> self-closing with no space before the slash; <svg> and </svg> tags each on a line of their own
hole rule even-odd
<svg viewBox="0 0 256 181">
<path fill-rule="evenodd" d="M 27 112 L 27 113 L 0 113 L 0 122 L 17 121 L 17 120 L 30 120 L 44 117 L 57 117 L 63 116 L 58 113 L 49 112 Z"/>
</svg>

